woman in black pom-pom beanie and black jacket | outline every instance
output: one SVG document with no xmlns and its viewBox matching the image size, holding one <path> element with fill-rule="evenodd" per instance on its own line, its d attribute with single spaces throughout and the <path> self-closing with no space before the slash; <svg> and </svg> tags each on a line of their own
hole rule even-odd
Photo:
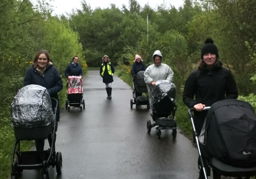
<svg viewBox="0 0 256 179">
<path fill-rule="evenodd" d="M 182 95 L 184 104 L 188 108 L 195 108 L 194 125 L 200 135 L 207 110 L 205 106 L 211 106 L 217 101 L 237 99 L 238 89 L 231 72 L 222 67 L 219 61 L 218 48 L 211 38 L 205 40 L 201 49 L 201 60 L 198 69 L 188 76 Z M 194 134 L 193 134 L 194 135 Z M 196 143 L 194 136 L 194 143 Z M 200 163 L 199 163 L 200 164 Z M 206 167 L 206 173 L 210 174 L 210 168 Z M 204 178 L 202 174 L 199 178 Z M 214 171 L 214 179 L 220 179 L 221 175 Z"/>
</svg>

